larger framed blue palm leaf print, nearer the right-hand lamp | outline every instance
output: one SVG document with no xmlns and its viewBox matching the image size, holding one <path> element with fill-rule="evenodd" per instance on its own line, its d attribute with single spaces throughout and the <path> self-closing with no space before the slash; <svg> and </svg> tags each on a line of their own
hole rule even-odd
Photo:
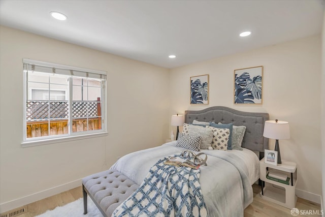
<svg viewBox="0 0 325 217">
<path fill-rule="evenodd" d="M 234 78 L 235 104 L 262 104 L 263 66 L 236 69 Z"/>
</svg>

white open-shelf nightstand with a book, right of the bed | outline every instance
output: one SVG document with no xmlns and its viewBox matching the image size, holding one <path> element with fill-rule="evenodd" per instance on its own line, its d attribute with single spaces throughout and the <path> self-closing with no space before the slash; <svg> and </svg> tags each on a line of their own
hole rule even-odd
<svg viewBox="0 0 325 217">
<path fill-rule="evenodd" d="M 286 208 L 296 207 L 296 184 L 297 184 L 297 164 L 282 160 L 282 164 L 273 165 L 265 163 L 264 158 L 260 161 L 259 177 L 262 180 L 261 197 Z M 289 184 L 268 179 L 267 172 L 277 171 L 290 177 Z"/>
</svg>

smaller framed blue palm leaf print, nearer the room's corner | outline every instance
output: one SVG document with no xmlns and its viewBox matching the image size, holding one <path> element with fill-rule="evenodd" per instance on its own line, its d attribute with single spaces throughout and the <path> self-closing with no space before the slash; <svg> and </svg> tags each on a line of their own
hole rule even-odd
<svg viewBox="0 0 325 217">
<path fill-rule="evenodd" d="M 209 104 L 209 75 L 190 77 L 190 104 Z"/>
</svg>

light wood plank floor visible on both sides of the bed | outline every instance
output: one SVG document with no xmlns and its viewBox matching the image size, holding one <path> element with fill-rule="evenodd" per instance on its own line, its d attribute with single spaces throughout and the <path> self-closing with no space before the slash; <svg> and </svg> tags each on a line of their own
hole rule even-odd
<svg viewBox="0 0 325 217">
<path fill-rule="evenodd" d="M 292 217 L 290 214 L 290 209 L 284 208 L 272 202 L 263 200 L 259 196 L 261 192 L 261 187 L 253 184 L 254 201 L 244 210 L 244 217 Z M 81 187 L 72 189 L 67 192 L 63 192 L 54 195 L 43 200 L 30 203 L 27 205 L 28 212 L 19 215 L 19 217 L 32 217 L 44 213 L 48 209 L 54 209 L 56 206 L 63 206 L 72 201 L 75 201 L 82 197 Z M 316 204 L 301 198 L 298 198 L 297 206 L 299 210 L 319 210 L 320 204 Z M 298 216 L 317 216 L 320 215 L 298 215 Z M 65 217 L 65 216 L 62 216 Z M 70 217 L 70 216 L 69 216 Z M 71 216 L 73 217 L 73 216 Z M 225 217 L 225 216 L 224 216 Z"/>
</svg>

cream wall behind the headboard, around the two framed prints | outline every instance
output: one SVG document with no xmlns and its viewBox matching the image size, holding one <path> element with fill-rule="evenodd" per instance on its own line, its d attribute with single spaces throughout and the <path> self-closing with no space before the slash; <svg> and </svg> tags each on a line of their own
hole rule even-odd
<svg viewBox="0 0 325 217">
<path fill-rule="evenodd" d="M 170 114 L 228 106 L 267 112 L 270 119 L 289 121 L 291 139 L 281 140 L 281 158 L 298 164 L 297 195 L 320 202 L 320 35 L 215 58 L 171 70 Z M 264 66 L 263 104 L 234 105 L 234 70 Z M 209 74 L 210 103 L 189 105 L 189 78 Z M 270 140 L 274 149 L 275 140 Z"/>
</svg>

